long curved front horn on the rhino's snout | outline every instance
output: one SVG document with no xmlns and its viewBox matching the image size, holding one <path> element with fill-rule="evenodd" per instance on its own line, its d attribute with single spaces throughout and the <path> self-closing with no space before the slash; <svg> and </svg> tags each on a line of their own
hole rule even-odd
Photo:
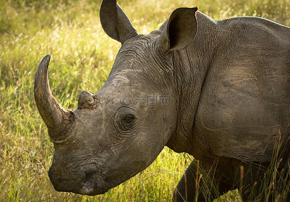
<svg viewBox="0 0 290 202">
<path fill-rule="evenodd" d="M 56 139 L 59 139 L 59 136 L 64 135 L 63 127 L 70 125 L 69 122 L 72 122 L 72 116 L 74 115 L 72 111 L 64 110 L 51 94 L 47 76 L 49 61 L 50 55 L 45 56 L 37 68 L 34 81 L 34 98 L 50 136 L 58 136 Z"/>
</svg>

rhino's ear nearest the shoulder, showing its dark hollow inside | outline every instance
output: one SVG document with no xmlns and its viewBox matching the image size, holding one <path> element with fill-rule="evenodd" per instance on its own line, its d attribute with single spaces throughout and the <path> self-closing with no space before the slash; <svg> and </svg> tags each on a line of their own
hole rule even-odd
<svg viewBox="0 0 290 202">
<path fill-rule="evenodd" d="M 177 8 L 172 12 L 158 38 L 158 44 L 163 50 L 182 50 L 194 40 L 197 32 L 196 11 L 197 8 Z"/>
</svg>

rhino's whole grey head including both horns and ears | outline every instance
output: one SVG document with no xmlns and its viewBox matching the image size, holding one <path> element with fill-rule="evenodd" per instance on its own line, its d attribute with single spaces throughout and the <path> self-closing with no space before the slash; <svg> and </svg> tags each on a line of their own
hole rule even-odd
<svg viewBox="0 0 290 202">
<path fill-rule="evenodd" d="M 42 59 L 34 96 L 54 144 L 48 175 L 57 191 L 104 194 L 147 168 L 169 139 L 174 142 L 179 92 L 173 52 L 194 39 L 196 11 L 179 8 L 160 30 L 139 35 L 116 1 L 104 0 L 102 27 L 122 46 L 105 84 L 95 94 L 82 91 L 74 111 L 51 94 L 50 55 Z"/>
</svg>

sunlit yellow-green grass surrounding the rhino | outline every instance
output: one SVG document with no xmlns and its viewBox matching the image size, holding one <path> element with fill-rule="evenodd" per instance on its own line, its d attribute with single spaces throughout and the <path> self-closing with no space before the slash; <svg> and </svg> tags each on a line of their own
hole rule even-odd
<svg viewBox="0 0 290 202">
<path fill-rule="evenodd" d="M 104 84 L 121 44 L 102 30 L 100 4 L 100 0 L 0 0 L 0 201 L 171 201 L 191 157 L 168 148 L 148 169 L 105 195 L 59 193 L 48 179 L 53 145 L 34 103 L 35 72 L 50 53 L 50 88 L 72 110 L 82 90 L 94 93 Z M 175 8 L 196 5 L 215 19 L 249 15 L 290 26 L 288 0 L 120 0 L 119 4 L 144 34 L 158 29 Z M 236 192 L 230 194 L 239 201 Z M 232 201 L 230 194 L 222 201 Z"/>
</svg>

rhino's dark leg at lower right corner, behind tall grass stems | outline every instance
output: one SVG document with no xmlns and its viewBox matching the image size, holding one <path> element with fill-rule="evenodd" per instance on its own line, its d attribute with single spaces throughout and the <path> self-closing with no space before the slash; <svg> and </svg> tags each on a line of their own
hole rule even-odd
<svg viewBox="0 0 290 202">
<path fill-rule="evenodd" d="M 288 173 L 284 172 L 284 166 L 283 163 L 280 163 L 280 167 L 277 166 L 267 171 L 269 163 L 237 161 L 235 185 L 239 190 L 242 200 L 274 202 L 279 197 L 281 199 L 286 197 L 287 200 L 284 201 L 290 201 L 290 195 L 288 192 L 284 192 L 287 190 L 287 186 L 284 189 L 283 184 L 289 180 Z"/>
</svg>

